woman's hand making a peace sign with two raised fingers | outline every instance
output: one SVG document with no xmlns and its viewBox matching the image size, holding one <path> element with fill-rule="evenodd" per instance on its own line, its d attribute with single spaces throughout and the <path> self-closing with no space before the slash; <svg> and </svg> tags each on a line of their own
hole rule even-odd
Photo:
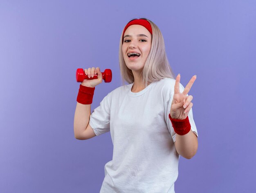
<svg viewBox="0 0 256 193">
<path fill-rule="evenodd" d="M 186 85 L 183 93 L 180 93 L 180 74 L 176 77 L 176 82 L 174 86 L 173 102 L 171 104 L 170 115 L 173 119 L 186 119 L 189 114 L 190 109 L 193 106 L 191 100 L 192 95 L 187 96 L 189 90 L 191 89 L 193 83 L 195 82 L 196 75 L 194 75 L 189 83 Z M 185 112 L 185 113 L 184 113 Z"/>
</svg>

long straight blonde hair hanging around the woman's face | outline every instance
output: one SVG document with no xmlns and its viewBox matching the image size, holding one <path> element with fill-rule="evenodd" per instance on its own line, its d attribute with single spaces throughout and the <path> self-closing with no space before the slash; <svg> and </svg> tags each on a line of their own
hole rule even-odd
<svg viewBox="0 0 256 193">
<path fill-rule="evenodd" d="M 148 20 L 146 18 L 141 18 L 144 20 Z M 148 84 L 155 82 L 157 80 L 163 78 L 173 78 L 175 74 L 173 73 L 168 59 L 166 57 L 165 46 L 164 46 L 164 38 L 157 27 L 152 21 L 148 20 L 152 27 L 152 42 L 150 52 L 148 54 L 148 58 L 146 59 L 143 70 L 141 71 L 143 84 L 145 88 Z M 123 29 L 124 31 L 124 29 Z M 124 85 L 124 80 L 129 84 L 134 82 L 134 76 L 132 74 L 132 70 L 130 70 L 124 61 L 124 56 L 122 52 L 122 44 L 123 44 L 123 31 L 121 33 L 120 43 L 119 43 L 119 66 L 121 71 L 121 80 L 122 85 Z"/>
</svg>

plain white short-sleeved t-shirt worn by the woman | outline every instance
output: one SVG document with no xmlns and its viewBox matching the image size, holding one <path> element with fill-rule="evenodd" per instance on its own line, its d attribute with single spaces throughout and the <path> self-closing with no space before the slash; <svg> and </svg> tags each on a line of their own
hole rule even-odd
<svg viewBox="0 0 256 193">
<path fill-rule="evenodd" d="M 137 93 L 132 85 L 108 93 L 90 115 L 95 135 L 110 131 L 113 143 L 100 193 L 175 193 L 180 155 L 168 117 L 175 80 L 161 79 Z M 188 116 L 198 136 L 192 109 Z"/>
</svg>

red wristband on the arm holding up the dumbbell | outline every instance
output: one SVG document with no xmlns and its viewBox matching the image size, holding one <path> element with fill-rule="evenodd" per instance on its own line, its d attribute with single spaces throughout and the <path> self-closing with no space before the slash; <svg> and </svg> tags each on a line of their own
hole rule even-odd
<svg viewBox="0 0 256 193">
<path fill-rule="evenodd" d="M 85 87 L 80 84 L 76 101 L 81 104 L 92 104 L 95 87 Z"/>
</svg>

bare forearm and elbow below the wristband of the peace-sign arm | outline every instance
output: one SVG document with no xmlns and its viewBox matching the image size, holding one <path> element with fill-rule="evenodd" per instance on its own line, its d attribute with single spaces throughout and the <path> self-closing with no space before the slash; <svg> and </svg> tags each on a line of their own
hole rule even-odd
<svg viewBox="0 0 256 193">
<path fill-rule="evenodd" d="M 176 134 L 175 148 L 177 153 L 184 158 L 190 159 L 195 155 L 198 149 L 198 140 L 191 129 L 185 135 Z"/>
</svg>

